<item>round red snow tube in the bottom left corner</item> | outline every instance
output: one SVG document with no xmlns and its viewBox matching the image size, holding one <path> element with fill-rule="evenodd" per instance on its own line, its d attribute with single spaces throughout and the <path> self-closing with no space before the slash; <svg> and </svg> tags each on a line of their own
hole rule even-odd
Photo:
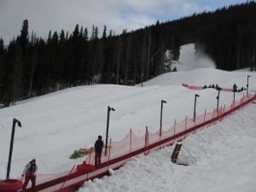
<svg viewBox="0 0 256 192">
<path fill-rule="evenodd" d="M 0 191 L 17 192 L 22 186 L 23 183 L 19 179 L 0 180 Z"/>
</svg>

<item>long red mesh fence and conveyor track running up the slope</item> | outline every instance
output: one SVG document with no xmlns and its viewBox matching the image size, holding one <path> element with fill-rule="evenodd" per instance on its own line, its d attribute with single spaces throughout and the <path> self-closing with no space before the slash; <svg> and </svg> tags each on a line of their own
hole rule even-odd
<svg viewBox="0 0 256 192">
<path fill-rule="evenodd" d="M 250 102 L 256 100 L 256 94 L 253 96 L 243 96 L 239 101 L 230 105 L 230 107 L 220 107 L 213 112 L 205 113 L 193 118 L 185 118 L 181 122 L 176 122 L 168 129 L 156 132 L 148 131 L 146 127 L 143 136 L 137 136 L 132 131 L 125 135 L 125 138 L 119 142 L 110 141 L 107 154 L 102 154 L 102 165 L 94 169 L 94 152 L 91 152 L 85 159 L 86 163 L 73 166 L 67 172 L 61 172 L 53 175 L 38 175 L 38 183 L 34 189 L 27 189 L 27 192 L 73 192 L 89 179 L 102 177 L 108 174 L 108 169 L 117 169 L 123 166 L 127 160 L 137 154 L 148 154 L 150 151 L 158 150 L 180 141 L 196 130 L 202 129 L 206 125 L 212 125 L 219 119 L 233 113 L 239 108 L 243 108 Z"/>
</svg>

